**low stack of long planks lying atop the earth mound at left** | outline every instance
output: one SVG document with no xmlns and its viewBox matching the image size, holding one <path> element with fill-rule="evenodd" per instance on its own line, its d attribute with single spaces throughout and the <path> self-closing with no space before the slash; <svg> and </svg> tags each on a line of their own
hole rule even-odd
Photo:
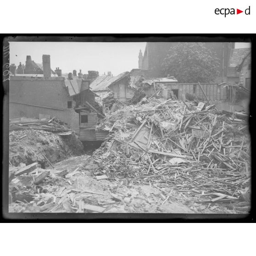
<svg viewBox="0 0 256 256">
<path fill-rule="evenodd" d="M 9 131 L 18 129 L 38 129 L 49 132 L 71 131 L 69 128 L 63 125 L 63 122 L 60 122 L 55 117 L 51 119 L 22 117 L 9 120 Z"/>
</svg>

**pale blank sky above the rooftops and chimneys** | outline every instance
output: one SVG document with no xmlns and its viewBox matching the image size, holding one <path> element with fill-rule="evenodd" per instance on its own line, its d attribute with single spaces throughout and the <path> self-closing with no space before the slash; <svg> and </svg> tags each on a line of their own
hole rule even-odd
<svg viewBox="0 0 256 256">
<path fill-rule="evenodd" d="M 82 73 L 99 71 L 100 75 L 111 71 L 114 76 L 138 68 L 139 50 L 145 51 L 145 42 L 10 42 L 10 63 L 25 65 L 30 55 L 36 63 L 42 63 L 42 55 L 50 55 L 51 69 L 59 67 L 62 73 L 74 69 Z M 235 43 L 235 48 L 250 47 L 250 43 Z"/>
</svg>

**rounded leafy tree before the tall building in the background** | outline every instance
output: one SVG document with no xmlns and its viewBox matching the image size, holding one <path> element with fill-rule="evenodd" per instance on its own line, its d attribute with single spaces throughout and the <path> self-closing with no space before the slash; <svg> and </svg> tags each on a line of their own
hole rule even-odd
<svg viewBox="0 0 256 256">
<path fill-rule="evenodd" d="M 178 43 L 170 48 L 162 72 L 179 83 L 208 83 L 219 75 L 219 66 L 220 60 L 204 43 Z"/>
</svg>

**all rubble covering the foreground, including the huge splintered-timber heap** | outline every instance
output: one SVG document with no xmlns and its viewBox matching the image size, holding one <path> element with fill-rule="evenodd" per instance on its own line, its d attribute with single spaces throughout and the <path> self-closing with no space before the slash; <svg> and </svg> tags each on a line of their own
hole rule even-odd
<svg viewBox="0 0 256 256">
<path fill-rule="evenodd" d="M 92 156 L 10 168 L 9 211 L 247 213 L 246 115 L 200 106 L 144 98 L 110 113 L 97 127 L 110 133 Z"/>
</svg>

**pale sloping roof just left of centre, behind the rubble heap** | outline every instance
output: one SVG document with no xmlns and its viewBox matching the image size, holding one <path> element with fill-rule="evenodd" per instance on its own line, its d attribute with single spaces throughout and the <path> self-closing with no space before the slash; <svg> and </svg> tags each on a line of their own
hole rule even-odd
<svg viewBox="0 0 256 256">
<path fill-rule="evenodd" d="M 107 90 L 107 88 L 112 84 L 116 83 L 118 80 L 126 77 L 129 74 L 129 72 L 122 72 L 121 74 L 117 75 L 116 77 L 110 77 L 110 76 L 100 76 L 97 77 L 91 84 L 90 88 L 93 91 L 104 91 Z"/>
</svg>

